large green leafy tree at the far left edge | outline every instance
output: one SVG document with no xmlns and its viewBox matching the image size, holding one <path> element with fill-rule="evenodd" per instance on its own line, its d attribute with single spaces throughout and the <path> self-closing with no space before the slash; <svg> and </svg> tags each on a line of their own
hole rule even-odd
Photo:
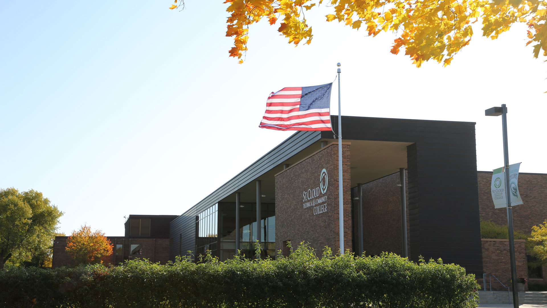
<svg viewBox="0 0 547 308">
<path fill-rule="evenodd" d="M 41 192 L 0 189 L 0 269 L 43 256 L 63 214 Z"/>
</svg>

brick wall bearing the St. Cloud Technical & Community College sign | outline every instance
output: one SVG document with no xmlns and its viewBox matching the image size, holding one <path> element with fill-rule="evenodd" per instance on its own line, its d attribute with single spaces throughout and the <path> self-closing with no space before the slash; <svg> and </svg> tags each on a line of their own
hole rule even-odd
<svg viewBox="0 0 547 308">
<path fill-rule="evenodd" d="M 350 143 L 342 142 L 342 178 L 344 191 L 344 248 L 352 250 L 351 232 L 351 178 Z M 314 214 L 315 206 L 304 208 L 302 193 L 319 187 L 321 170 L 328 173 L 326 193 L 312 198 L 326 196 L 327 200 L 316 206 L 326 204 L 327 210 Z M 284 242 L 290 241 L 295 248 L 306 241 L 320 256 L 325 246 L 334 253 L 339 250 L 338 215 L 338 144 L 334 142 L 313 153 L 302 161 L 293 164 L 275 177 L 276 189 L 276 250 L 282 249 Z M 294 249 L 293 248 L 293 249 Z"/>
</svg>

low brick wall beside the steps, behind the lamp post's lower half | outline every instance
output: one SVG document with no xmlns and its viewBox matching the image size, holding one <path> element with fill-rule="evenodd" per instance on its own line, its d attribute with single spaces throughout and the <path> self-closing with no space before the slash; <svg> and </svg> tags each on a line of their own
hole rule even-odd
<svg viewBox="0 0 547 308">
<path fill-rule="evenodd" d="M 520 189 L 520 187 L 519 187 Z M 506 287 L 511 286 L 511 264 L 509 258 L 509 239 L 482 238 L 482 269 L 486 274 L 492 274 Z M 526 265 L 526 252 L 524 239 L 515 239 L 516 276 L 528 279 L 528 267 Z M 479 277 L 478 277 L 479 278 Z M 499 282 L 493 277 L 492 290 L 504 291 Z M 482 284 L 482 277 L 478 279 Z M 486 289 L 490 290 L 490 279 L 486 278 Z M 527 287 L 527 286 L 526 286 Z"/>
</svg>

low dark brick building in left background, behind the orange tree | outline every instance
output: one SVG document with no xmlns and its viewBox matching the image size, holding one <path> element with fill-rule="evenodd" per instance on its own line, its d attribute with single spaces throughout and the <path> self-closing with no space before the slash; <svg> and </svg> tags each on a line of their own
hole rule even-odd
<svg viewBox="0 0 547 308">
<path fill-rule="evenodd" d="M 169 261 L 169 223 L 177 215 L 129 215 L 125 221 L 125 236 L 107 236 L 113 244 L 111 261 L 148 259 L 161 264 Z M 53 243 L 53 267 L 73 266 L 66 252 L 68 236 L 56 236 Z"/>
</svg>

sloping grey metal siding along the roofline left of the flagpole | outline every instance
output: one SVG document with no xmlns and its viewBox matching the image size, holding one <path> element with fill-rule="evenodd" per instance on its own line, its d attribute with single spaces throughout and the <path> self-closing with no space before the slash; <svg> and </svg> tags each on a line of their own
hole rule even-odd
<svg viewBox="0 0 547 308">
<path fill-rule="evenodd" d="M 329 138 L 331 137 L 332 136 Z M 257 179 L 260 175 L 268 172 L 278 164 L 283 163 L 288 158 L 304 150 L 319 139 L 321 139 L 321 132 L 296 132 L 270 152 L 267 152 L 266 155 L 252 163 L 251 166 L 220 186 L 211 193 L 211 195 L 205 197 L 205 199 L 188 209 L 177 219 L 171 221 L 170 238 L 173 238 L 173 245 L 170 249 L 171 260 L 174 260 L 174 257 L 179 254 L 179 251 L 181 251 L 183 255 L 187 254 L 188 250 L 191 250 L 194 253 L 195 216 L 197 214 L 229 196 L 231 193 L 236 192 L 248 182 Z M 179 239 L 179 235 L 181 234 L 182 241 Z"/>
</svg>

